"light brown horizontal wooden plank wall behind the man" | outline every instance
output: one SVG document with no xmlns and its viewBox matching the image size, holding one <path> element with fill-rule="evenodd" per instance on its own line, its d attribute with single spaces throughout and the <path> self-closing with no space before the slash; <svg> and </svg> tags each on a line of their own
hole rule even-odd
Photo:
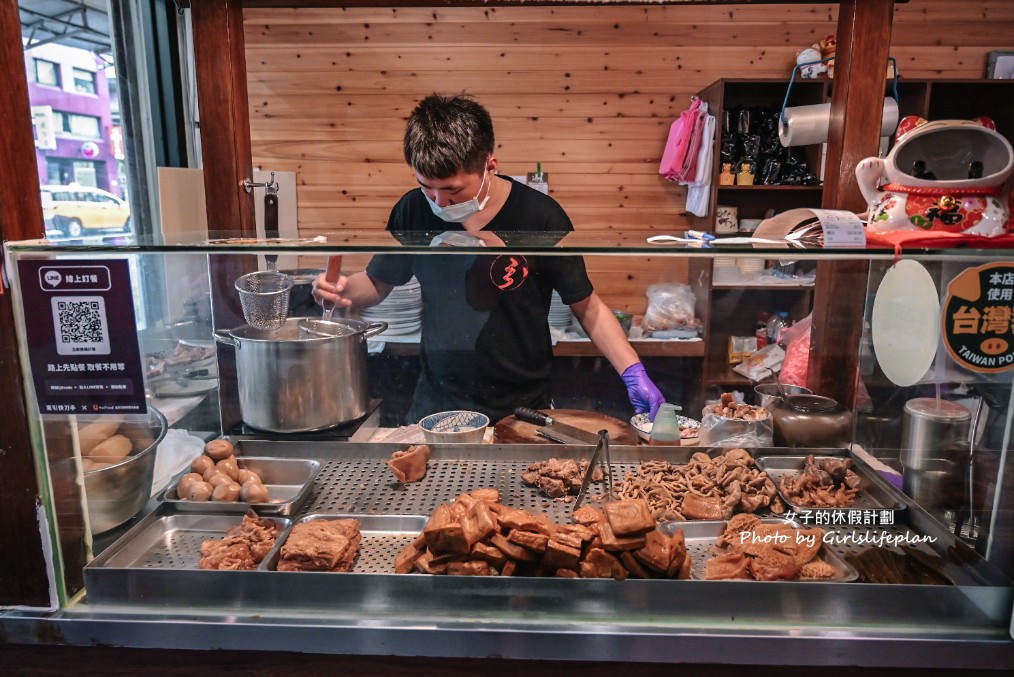
<svg viewBox="0 0 1014 677">
<path fill-rule="evenodd" d="M 243 19 L 254 163 L 297 172 L 302 234 L 383 228 L 415 186 L 407 116 L 430 92 L 466 91 L 493 115 L 504 173 L 541 162 L 577 229 L 649 236 L 690 225 L 685 190 L 657 169 L 691 96 L 722 77 L 788 80 L 838 9 L 248 8 Z M 977 78 L 1011 34 L 1014 2 L 912 0 L 894 9 L 891 54 L 908 77 Z M 657 258 L 629 278 L 588 266 L 610 305 L 635 311 L 640 285 L 686 274 Z"/>
</svg>

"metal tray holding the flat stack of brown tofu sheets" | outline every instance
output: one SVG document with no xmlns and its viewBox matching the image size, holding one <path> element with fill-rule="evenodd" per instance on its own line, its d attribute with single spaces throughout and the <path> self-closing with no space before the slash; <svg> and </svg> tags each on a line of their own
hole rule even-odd
<svg viewBox="0 0 1014 677">
<path fill-rule="evenodd" d="M 335 576 L 333 572 L 278 572 L 282 545 L 289 537 L 292 527 L 311 520 L 359 520 L 359 532 L 363 536 L 359 552 L 350 574 L 393 574 L 394 557 L 411 543 L 426 526 L 428 519 L 422 515 L 307 515 L 293 522 L 275 542 L 275 547 L 261 562 L 262 571 L 279 574 L 299 574 L 301 576 Z"/>
</svg>

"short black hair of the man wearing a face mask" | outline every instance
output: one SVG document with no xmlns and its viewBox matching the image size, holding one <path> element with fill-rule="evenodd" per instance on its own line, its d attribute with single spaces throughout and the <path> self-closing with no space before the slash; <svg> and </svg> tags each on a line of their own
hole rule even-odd
<svg viewBox="0 0 1014 677">
<path fill-rule="evenodd" d="M 409 116 L 405 161 L 427 178 L 480 174 L 493 154 L 493 119 L 472 97 L 430 94 Z"/>
</svg>

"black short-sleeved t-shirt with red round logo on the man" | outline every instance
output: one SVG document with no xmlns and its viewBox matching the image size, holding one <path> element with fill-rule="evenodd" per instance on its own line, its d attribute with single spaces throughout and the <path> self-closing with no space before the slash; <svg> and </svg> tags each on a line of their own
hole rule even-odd
<svg viewBox="0 0 1014 677">
<path fill-rule="evenodd" d="M 513 180 L 510 187 L 506 203 L 483 230 L 510 244 L 512 233 L 574 229 L 549 196 Z M 436 217 L 416 189 L 394 205 L 387 230 L 436 234 L 463 228 Z M 549 406 L 553 290 L 566 304 L 593 291 L 580 256 L 522 256 L 496 249 L 481 255 L 378 254 L 366 272 L 388 285 L 415 276 L 422 288 L 422 373 L 409 423 L 458 408 L 482 411 L 496 423 L 516 406 Z"/>
</svg>

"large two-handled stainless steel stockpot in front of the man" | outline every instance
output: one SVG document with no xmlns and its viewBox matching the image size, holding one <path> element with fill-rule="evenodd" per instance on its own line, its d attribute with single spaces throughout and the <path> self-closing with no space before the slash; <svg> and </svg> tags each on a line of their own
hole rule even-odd
<svg viewBox="0 0 1014 677">
<path fill-rule="evenodd" d="M 290 317 L 278 329 L 244 324 L 215 332 L 236 349 L 239 412 L 243 423 L 272 433 L 334 428 L 366 413 L 366 340 L 386 322 L 338 319 L 341 335 L 300 337 Z"/>
</svg>

